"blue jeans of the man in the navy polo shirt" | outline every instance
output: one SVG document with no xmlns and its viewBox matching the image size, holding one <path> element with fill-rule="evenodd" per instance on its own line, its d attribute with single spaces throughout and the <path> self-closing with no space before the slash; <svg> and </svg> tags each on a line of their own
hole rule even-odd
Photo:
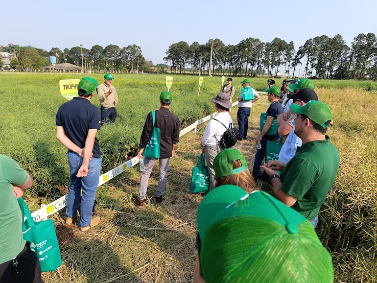
<svg viewBox="0 0 377 283">
<path fill-rule="evenodd" d="M 66 215 L 68 217 L 75 217 L 77 215 L 78 203 L 80 202 L 80 227 L 89 226 L 92 221 L 93 204 L 95 199 L 95 192 L 99 182 L 99 174 L 101 172 L 102 158 L 92 158 L 89 161 L 88 175 L 85 177 L 76 177 L 77 171 L 82 164 L 82 157 L 77 153 L 69 151 L 68 165 L 70 165 L 71 183 L 68 190 L 68 200 Z"/>
</svg>

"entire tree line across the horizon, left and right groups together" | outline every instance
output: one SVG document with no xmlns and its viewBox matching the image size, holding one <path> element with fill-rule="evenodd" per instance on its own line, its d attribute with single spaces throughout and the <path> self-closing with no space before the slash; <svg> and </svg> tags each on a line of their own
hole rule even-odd
<svg viewBox="0 0 377 283">
<path fill-rule="evenodd" d="M 134 73 L 138 68 L 144 72 L 164 73 L 169 68 L 166 64 L 154 66 L 152 61 L 146 61 L 137 45 L 122 48 L 94 45 L 91 49 L 72 47 L 64 50 L 53 47 L 46 51 L 8 44 L 0 49 L 16 54 L 10 66 L 17 71 L 41 69 L 49 65 L 48 56 L 56 54 L 59 56 L 57 64 L 67 62 L 81 66 L 82 59 L 85 69 L 89 69 L 90 64 L 92 70 L 97 71 Z M 171 44 L 165 54 L 164 60 L 170 64 L 171 73 L 200 74 L 207 71 L 213 75 L 277 76 L 278 70 L 284 67 L 282 75 L 285 77 L 304 75 L 318 79 L 377 80 L 377 39 L 374 33 L 360 33 L 353 38 L 351 47 L 339 34 L 332 38 L 322 35 L 308 39 L 297 50 L 293 41 L 287 43 L 275 38 L 264 43 L 249 37 L 236 45 L 225 45 L 220 39 L 210 39 L 203 45 L 180 41 Z"/>
</svg>

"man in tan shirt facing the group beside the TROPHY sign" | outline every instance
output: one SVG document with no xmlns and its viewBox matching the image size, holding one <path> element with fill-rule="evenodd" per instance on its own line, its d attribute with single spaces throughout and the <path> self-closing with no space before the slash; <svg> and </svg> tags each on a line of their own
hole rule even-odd
<svg viewBox="0 0 377 283">
<path fill-rule="evenodd" d="M 104 82 L 97 87 L 99 103 L 101 104 L 101 124 L 114 123 L 117 118 L 118 93 L 113 86 L 113 76 L 106 73 Z"/>
</svg>

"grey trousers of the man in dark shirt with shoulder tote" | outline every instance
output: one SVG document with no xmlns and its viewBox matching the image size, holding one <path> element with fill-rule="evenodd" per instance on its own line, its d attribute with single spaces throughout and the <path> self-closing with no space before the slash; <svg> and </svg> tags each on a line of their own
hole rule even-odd
<svg viewBox="0 0 377 283">
<path fill-rule="evenodd" d="M 146 191 L 148 188 L 149 176 L 152 173 L 153 166 L 157 159 L 144 157 L 145 170 L 141 171 L 140 185 L 139 185 L 139 199 L 146 199 Z M 159 185 L 156 190 L 156 196 L 163 196 L 167 182 L 167 168 L 169 167 L 170 158 L 160 158 L 160 178 Z"/>
</svg>

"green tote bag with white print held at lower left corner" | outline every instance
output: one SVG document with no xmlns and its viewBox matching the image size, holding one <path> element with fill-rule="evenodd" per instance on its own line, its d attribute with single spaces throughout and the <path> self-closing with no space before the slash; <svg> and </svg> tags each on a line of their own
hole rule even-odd
<svg viewBox="0 0 377 283">
<path fill-rule="evenodd" d="M 62 264 L 62 259 L 52 219 L 34 222 L 24 199 L 20 197 L 17 200 L 24 218 L 22 225 L 24 240 L 30 242 L 31 250 L 35 252 L 41 263 L 42 272 L 55 270 Z"/>
</svg>

